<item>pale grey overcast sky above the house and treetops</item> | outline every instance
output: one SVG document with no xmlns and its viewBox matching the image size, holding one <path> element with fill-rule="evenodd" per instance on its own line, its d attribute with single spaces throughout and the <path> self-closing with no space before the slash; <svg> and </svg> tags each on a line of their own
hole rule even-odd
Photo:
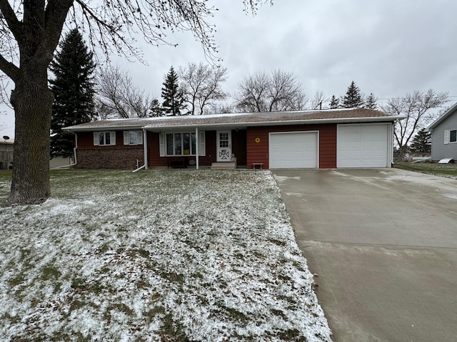
<svg viewBox="0 0 457 342">
<path fill-rule="evenodd" d="M 414 90 L 448 92 L 457 102 L 457 1 L 275 0 L 256 16 L 241 0 L 212 0 L 224 89 L 235 93 L 243 76 L 281 68 L 296 74 L 312 96 L 346 93 L 355 81 L 378 103 Z M 160 98 L 171 65 L 205 62 L 191 33 L 173 33 L 178 47 L 141 44 L 148 65 L 114 58 L 134 82 Z M 161 100 L 161 99 L 160 99 Z M 4 106 L 0 107 L 5 110 Z M 14 113 L 0 115 L 0 136 L 14 137 Z"/>
</svg>

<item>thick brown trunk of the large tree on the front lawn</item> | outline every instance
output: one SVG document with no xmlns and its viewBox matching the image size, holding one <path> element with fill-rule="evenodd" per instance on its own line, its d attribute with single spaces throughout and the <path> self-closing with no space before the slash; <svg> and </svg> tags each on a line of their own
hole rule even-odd
<svg viewBox="0 0 457 342">
<path fill-rule="evenodd" d="M 48 88 L 46 61 L 27 63 L 20 73 L 11 93 L 16 128 L 13 179 L 6 204 L 39 204 L 51 192 L 49 133 L 54 96 Z"/>
</svg>

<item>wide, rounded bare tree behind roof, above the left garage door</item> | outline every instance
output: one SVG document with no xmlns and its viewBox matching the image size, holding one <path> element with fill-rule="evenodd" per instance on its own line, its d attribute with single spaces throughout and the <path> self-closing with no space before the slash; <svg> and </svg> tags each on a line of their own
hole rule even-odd
<svg viewBox="0 0 457 342">
<path fill-rule="evenodd" d="M 308 99 L 293 73 L 258 71 L 238 84 L 236 107 L 246 112 L 300 110 Z"/>
</svg>

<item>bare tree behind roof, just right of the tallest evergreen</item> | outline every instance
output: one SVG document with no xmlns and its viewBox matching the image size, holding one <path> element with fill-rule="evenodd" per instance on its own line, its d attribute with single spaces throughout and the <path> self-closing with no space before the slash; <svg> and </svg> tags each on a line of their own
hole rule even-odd
<svg viewBox="0 0 457 342">
<path fill-rule="evenodd" d="M 97 107 L 102 118 L 145 118 L 154 98 L 134 84 L 119 67 L 108 67 L 97 75 Z"/>
</svg>

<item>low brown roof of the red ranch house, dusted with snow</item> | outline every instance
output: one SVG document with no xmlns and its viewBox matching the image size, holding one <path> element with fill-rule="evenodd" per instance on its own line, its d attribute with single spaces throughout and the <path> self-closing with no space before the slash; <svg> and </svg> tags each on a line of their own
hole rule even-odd
<svg viewBox="0 0 457 342">
<path fill-rule="evenodd" d="M 267 113 L 235 113 L 217 115 L 182 115 L 159 118 L 100 120 L 64 128 L 69 131 L 171 128 L 248 127 L 261 125 L 303 125 L 311 123 L 392 122 L 402 119 L 379 110 L 366 108 L 297 110 Z"/>
</svg>

